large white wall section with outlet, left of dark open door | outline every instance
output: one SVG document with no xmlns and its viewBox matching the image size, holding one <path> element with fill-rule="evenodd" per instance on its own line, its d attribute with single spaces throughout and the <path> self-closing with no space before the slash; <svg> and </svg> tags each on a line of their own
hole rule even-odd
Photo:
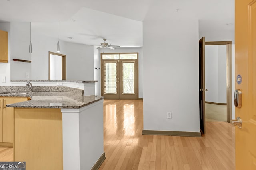
<svg viewBox="0 0 256 170">
<path fill-rule="evenodd" d="M 199 132 L 198 20 L 144 21 L 143 55 L 143 129 Z"/>
</svg>

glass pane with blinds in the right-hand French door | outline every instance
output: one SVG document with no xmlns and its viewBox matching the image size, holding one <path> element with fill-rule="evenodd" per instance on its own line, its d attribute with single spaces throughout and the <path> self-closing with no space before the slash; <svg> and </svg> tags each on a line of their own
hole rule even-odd
<svg viewBox="0 0 256 170">
<path fill-rule="evenodd" d="M 134 94 L 134 63 L 122 63 L 123 94 Z"/>
</svg>

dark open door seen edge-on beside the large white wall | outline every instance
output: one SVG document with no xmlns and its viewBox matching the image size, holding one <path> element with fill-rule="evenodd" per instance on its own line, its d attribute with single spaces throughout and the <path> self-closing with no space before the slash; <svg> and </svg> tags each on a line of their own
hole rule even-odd
<svg viewBox="0 0 256 170">
<path fill-rule="evenodd" d="M 204 82 L 204 37 L 199 40 L 199 122 L 205 133 L 205 82 Z"/>
</svg>

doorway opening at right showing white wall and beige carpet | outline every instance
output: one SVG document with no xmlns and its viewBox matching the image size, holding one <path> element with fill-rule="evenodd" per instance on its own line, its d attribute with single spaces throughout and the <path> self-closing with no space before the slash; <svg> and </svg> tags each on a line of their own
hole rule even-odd
<svg viewBox="0 0 256 170">
<path fill-rule="evenodd" d="M 207 43 L 207 42 L 206 42 Z M 205 116 L 208 122 L 227 122 L 227 45 L 205 46 Z"/>
</svg>

